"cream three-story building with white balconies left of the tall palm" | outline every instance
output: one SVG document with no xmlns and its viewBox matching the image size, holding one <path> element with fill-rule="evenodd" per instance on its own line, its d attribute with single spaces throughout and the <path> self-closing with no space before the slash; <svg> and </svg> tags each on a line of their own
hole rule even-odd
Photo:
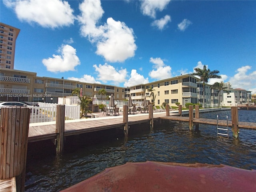
<svg viewBox="0 0 256 192">
<path fill-rule="evenodd" d="M 175 106 L 176 102 L 181 105 L 186 103 L 197 103 L 197 84 L 198 78 L 186 74 L 169 79 L 159 80 L 148 84 L 140 84 L 130 87 L 130 95 L 134 102 L 146 100 L 154 100 L 155 105 L 162 105 L 162 103 Z M 149 89 L 154 90 L 154 98 Z"/>
</svg>

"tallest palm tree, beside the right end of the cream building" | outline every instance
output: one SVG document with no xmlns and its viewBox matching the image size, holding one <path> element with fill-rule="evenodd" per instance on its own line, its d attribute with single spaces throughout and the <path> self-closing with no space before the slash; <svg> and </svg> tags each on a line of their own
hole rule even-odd
<svg viewBox="0 0 256 192">
<path fill-rule="evenodd" d="M 203 106 L 202 106 L 202 108 L 204 108 L 205 83 L 208 83 L 208 79 L 211 79 L 211 78 L 220 79 L 221 76 L 217 75 L 219 73 L 218 70 L 210 71 L 210 69 L 206 68 L 206 65 L 204 65 L 204 67 L 202 69 L 201 68 L 194 68 L 194 70 L 195 70 L 195 72 L 192 73 L 191 75 L 199 76 L 200 81 L 203 82 Z"/>
</svg>

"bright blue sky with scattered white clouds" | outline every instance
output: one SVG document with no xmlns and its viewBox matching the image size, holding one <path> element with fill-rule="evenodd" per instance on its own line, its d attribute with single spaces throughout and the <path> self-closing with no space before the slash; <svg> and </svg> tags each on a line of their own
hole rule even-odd
<svg viewBox="0 0 256 192">
<path fill-rule="evenodd" d="M 256 93 L 256 1 L 0 1 L 20 29 L 14 69 L 133 86 L 219 70 Z"/>
</svg>

